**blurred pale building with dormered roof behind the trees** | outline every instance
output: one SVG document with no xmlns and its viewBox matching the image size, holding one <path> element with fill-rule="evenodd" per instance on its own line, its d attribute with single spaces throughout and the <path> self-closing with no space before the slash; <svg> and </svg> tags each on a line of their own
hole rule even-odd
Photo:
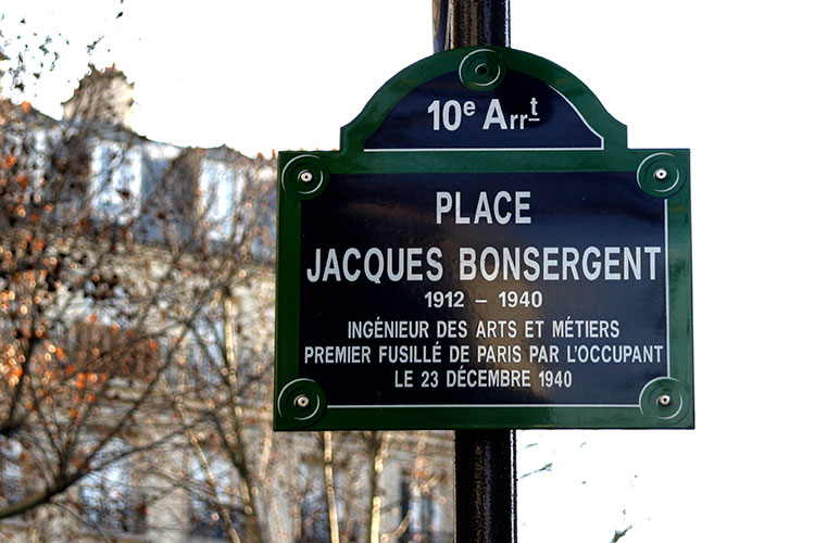
<svg viewBox="0 0 815 543">
<path fill-rule="evenodd" d="M 0 541 L 452 541 L 449 432 L 272 433 L 274 155 L 149 140 L 129 128 L 131 97 L 115 66 L 93 68 L 62 121 L 25 112 L 42 159 L 25 175 L 42 182 L 21 189 L 28 223 L 0 238 L 16 247 L 24 228 L 40 227 L 30 218 L 55 179 L 71 185 L 42 238 L 59 241 L 43 255 L 73 266 L 72 280 L 46 286 L 51 328 L 30 357 L 74 396 L 47 395 L 41 376 L 15 380 L 30 342 L 17 336 L 20 315 L 9 317 L 4 393 L 26 379 L 34 415 L 16 413 L 35 429 L 27 441 L 26 426 L 0 435 L 0 515 L 51 488 L 58 478 L 42 473 L 55 473 L 57 458 L 82 475 L 0 519 Z M 4 135 L 9 149 L 23 148 L 15 137 Z M 12 285 L 10 272 L 0 287 Z M 37 394 L 67 403 L 38 419 Z M 35 451 L 68 430 L 98 449 L 74 471 L 82 443 Z M 64 458 L 62 445 L 74 447 Z"/>
</svg>

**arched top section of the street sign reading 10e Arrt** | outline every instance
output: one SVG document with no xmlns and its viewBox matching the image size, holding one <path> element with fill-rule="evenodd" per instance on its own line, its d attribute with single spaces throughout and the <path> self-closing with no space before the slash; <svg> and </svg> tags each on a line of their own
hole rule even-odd
<svg viewBox="0 0 815 543">
<path fill-rule="evenodd" d="M 424 59 L 342 129 L 343 152 L 605 151 L 626 127 L 556 64 L 500 47 Z"/>
</svg>

